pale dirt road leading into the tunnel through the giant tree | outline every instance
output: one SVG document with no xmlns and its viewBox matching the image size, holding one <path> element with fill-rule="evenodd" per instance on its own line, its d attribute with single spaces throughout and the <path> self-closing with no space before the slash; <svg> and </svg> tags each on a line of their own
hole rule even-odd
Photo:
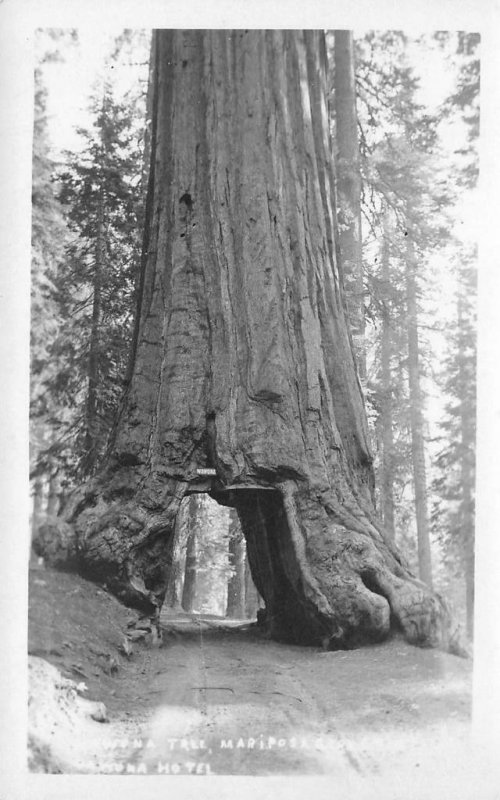
<svg viewBox="0 0 500 800">
<path fill-rule="evenodd" d="M 366 776 L 436 758 L 446 769 L 467 749 L 470 665 L 453 656 L 400 641 L 321 652 L 200 617 L 163 624 L 166 646 L 149 652 L 126 715 L 134 741 L 112 744 L 104 771 Z"/>
</svg>

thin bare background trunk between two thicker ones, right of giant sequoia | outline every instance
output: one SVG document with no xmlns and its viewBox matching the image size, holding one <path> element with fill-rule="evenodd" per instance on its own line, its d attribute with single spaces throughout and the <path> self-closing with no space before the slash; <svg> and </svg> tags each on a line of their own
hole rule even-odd
<svg viewBox="0 0 500 800">
<path fill-rule="evenodd" d="M 392 415 L 392 322 L 389 305 L 389 222 L 384 217 L 384 239 L 382 243 L 382 281 L 385 303 L 382 311 L 382 337 L 380 346 L 381 400 L 380 424 L 382 427 L 382 520 L 391 541 L 395 540 L 394 527 L 394 422 Z"/>
</svg>

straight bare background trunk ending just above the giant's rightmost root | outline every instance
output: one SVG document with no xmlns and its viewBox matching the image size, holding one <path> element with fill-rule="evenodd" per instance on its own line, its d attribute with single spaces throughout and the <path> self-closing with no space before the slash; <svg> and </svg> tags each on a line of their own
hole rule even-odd
<svg viewBox="0 0 500 800">
<path fill-rule="evenodd" d="M 406 303 L 408 313 L 408 379 L 410 388 L 410 424 L 417 519 L 419 575 L 432 587 L 431 545 L 427 510 L 427 477 L 425 468 L 424 410 L 420 385 L 420 355 L 418 341 L 418 308 L 416 258 L 413 241 L 406 239 Z"/>
</svg>

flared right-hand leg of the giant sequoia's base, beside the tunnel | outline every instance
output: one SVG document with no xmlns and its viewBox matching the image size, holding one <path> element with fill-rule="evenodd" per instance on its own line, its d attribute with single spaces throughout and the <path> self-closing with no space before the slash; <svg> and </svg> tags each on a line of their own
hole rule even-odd
<svg viewBox="0 0 500 800">
<path fill-rule="evenodd" d="M 446 603 L 382 537 L 329 521 L 320 504 L 290 487 L 242 494 L 238 513 L 273 638 L 335 650 L 382 641 L 397 630 L 412 644 L 449 647 Z M 326 525 L 317 524 L 321 516 Z M 307 541 L 304 523 L 320 528 Z"/>
</svg>

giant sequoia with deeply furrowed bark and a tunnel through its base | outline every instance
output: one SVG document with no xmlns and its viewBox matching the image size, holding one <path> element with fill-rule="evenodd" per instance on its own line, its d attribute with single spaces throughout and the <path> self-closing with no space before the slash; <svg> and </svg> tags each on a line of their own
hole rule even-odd
<svg viewBox="0 0 500 800">
<path fill-rule="evenodd" d="M 449 645 L 373 504 L 319 32 L 156 34 L 130 382 L 65 518 L 86 574 L 161 604 L 183 496 L 236 508 L 272 636 Z M 200 477 L 209 467 L 215 477 Z M 71 543 L 72 542 L 72 543 Z"/>
</svg>

